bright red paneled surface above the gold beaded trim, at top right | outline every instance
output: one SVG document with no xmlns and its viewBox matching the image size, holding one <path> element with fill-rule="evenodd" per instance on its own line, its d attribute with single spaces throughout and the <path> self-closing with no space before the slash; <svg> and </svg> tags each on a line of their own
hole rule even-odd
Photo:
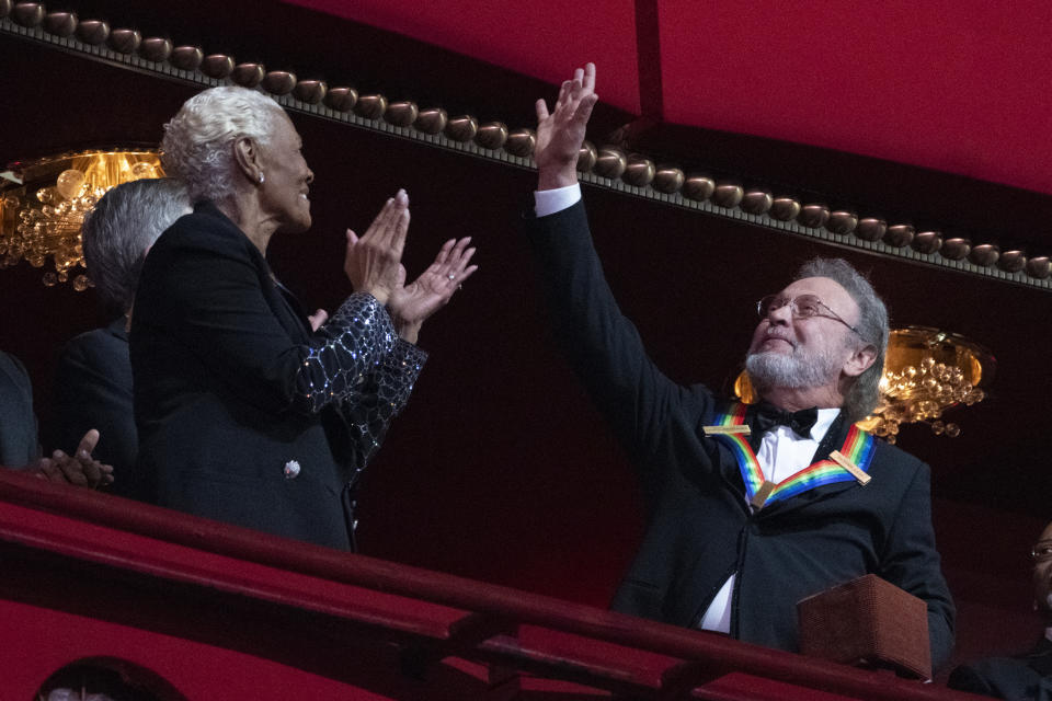
<svg viewBox="0 0 1052 701">
<path fill-rule="evenodd" d="M 287 1 L 550 82 L 593 60 L 602 99 L 632 113 L 660 100 L 667 122 L 1052 193 L 1042 0 Z M 655 95 L 639 54 L 660 56 Z"/>
</svg>

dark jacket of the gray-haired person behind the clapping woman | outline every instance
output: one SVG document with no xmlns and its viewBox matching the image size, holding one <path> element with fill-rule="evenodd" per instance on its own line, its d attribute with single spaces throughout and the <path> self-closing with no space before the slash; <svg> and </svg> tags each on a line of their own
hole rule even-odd
<svg viewBox="0 0 1052 701">
<path fill-rule="evenodd" d="M 80 334 L 62 348 L 53 412 L 47 443 L 69 452 L 89 429 L 98 428 L 99 445 L 92 455 L 113 466 L 111 491 L 127 496 L 139 440 L 124 317 Z"/>
</svg>

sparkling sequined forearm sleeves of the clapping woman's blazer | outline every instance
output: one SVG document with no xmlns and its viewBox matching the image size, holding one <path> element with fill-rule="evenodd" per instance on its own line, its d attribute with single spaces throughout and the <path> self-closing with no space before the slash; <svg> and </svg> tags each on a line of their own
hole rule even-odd
<svg viewBox="0 0 1052 701">
<path fill-rule="evenodd" d="M 345 414 L 361 404 L 354 423 L 365 428 L 357 433 L 379 445 L 381 425 L 404 406 L 426 354 L 400 340 L 387 310 L 362 292 L 348 297 L 315 340 L 296 374 L 294 404 L 310 413 L 338 404 Z"/>
</svg>

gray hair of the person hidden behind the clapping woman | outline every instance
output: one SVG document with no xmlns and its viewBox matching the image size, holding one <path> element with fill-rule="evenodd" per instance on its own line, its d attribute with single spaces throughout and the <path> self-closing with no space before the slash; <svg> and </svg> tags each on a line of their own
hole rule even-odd
<svg viewBox="0 0 1052 701">
<path fill-rule="evenodd" d="M 88 212 L 84 263 L 106 308 L 122 314 L 132 308 L 147 250 L 188 208 L 186 186 L 161 177 L 117 185 Z"/>
</svg>

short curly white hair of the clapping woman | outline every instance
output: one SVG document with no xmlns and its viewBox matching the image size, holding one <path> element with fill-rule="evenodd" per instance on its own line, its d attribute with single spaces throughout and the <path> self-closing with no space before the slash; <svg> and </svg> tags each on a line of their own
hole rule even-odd
<svg viewBox="0 0 1052 701">
<path fill-rule="evenodd" d="M 282 107 L 261 92 L 221 85 L 199 92 L 164 125 L 161 164 L 186 183 L 191 202 L 222 203 L 235 194 L 233 142 L 267 145 Z"/>
</svg>

